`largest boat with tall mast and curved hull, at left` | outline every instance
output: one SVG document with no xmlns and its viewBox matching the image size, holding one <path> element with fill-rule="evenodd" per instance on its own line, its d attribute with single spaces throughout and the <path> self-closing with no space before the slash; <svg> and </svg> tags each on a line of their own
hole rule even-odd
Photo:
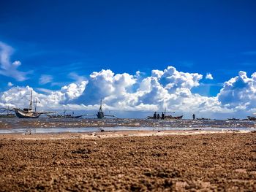
<svg viewBox="0 0 256 192">
<path fill-rule="evenodd" d="M 24 108 L 23 110 L 20 110 L 19 108 L 15 108 L 15 114 L 17 115 L 18 118 L 39 118 L 39 116 L 44 113 L 44 112 L 37 112 L 37 100 L 36 100 L 36 105 L 35 105 L 35 110 L 32 110 L 32 103 L 33 103 L 33 95 L 31 91 L 31 96 L 30 96 L 30 103 L 29 103 L 29 108 Z"/>
</svg>

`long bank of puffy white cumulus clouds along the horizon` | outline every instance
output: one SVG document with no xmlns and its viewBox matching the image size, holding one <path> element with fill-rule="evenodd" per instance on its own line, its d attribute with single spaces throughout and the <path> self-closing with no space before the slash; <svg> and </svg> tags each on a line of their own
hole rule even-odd
<svg viewBox="0 0 256 192">
<path fill-rule="evenodd" d="M 114 74 L 110 69 L 92 72 L 88 80 L 63 86 L 59 91 L 39 91 L 34 96 L 41 101 L 42 110 L 97 110 L 103 99 L 105 110 L 156 111 L 181 113 L 246 112 L 256 109 L 256 73 L 251 78 L 245 72 L 225 82 L 215 97 L 192 93 L 200 85 L 202 74 L 178 72 L 173 66 L 165 70 L 152 70 L 151 76 L 138 73 Z M 26 107 L 31 88 L 12 87 L 1 94 L 0 106 Z M 212 116 L 211 116 L 212 117 Z"/>
</svg>

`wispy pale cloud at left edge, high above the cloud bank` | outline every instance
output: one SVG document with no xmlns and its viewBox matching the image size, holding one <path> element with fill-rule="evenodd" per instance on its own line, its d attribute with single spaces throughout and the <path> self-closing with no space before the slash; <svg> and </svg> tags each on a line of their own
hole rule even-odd
<svg viewBox="0 0 256 192">
<path fill-rule="evenodd" d="M 0 74 L 12 77 L 18 81 L 27 80 L 27 74 L 29 74 L 29 72 L 20 72 L 18 70 L 18 66 L 21 65 L 20 61 L 10 61 L 10 55 L 12 55 L 12 53 L 12 47 L 0 42 Z"/>
</svg>

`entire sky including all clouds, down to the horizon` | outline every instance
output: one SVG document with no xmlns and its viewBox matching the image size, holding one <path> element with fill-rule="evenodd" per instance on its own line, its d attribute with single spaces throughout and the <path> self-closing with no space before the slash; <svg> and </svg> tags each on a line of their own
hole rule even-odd
<svg viewBox="0 0 256 192">
<path fill-rule="evenodd" d="M 256 109 L 256 2 L 0 1 L 0 107 Z"/>
</svg>

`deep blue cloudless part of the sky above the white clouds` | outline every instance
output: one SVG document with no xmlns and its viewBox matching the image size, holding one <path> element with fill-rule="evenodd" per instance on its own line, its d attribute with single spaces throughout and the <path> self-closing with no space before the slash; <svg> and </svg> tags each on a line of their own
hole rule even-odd
<svg viewBox="0 0 256 192">
<path fill-rule="evenodd" d="M 145 76 L 174 66 L 179 72 L 211 73 L 193 93 L 216 96 L 223 82 L 256 66 L 256 1 L 0 1 L 0 41 L 11 61 L 29 72 L 7 83 L 58 90 L 69 73 Z M 39 83 L 47 74 L 51 83 Z"/>
</svg>

